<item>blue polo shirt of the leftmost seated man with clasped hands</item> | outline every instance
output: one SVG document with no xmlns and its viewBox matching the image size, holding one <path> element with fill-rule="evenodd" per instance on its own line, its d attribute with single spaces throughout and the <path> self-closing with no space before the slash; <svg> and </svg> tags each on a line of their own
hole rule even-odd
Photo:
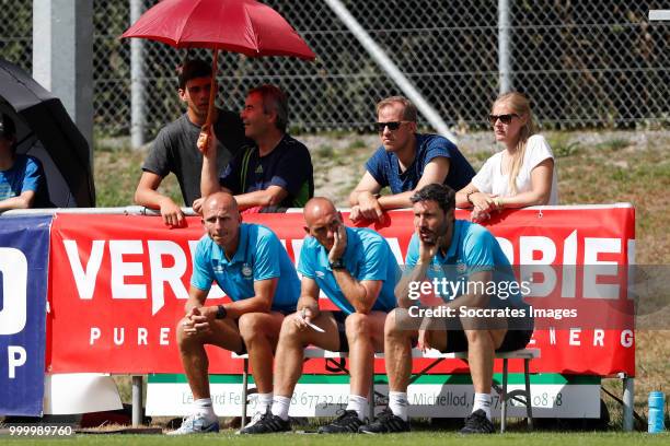
<svg viewBox="0 0 670 446">
<path fill-rule="evenodd" d="M 233 258 L 205 234 L 196 247 L 190 284 L 209 291 L 216 280 L 233 301 L 256 295 L 254 282 L 279 278 L 273 310 L 294 312 L 300 296 L 300 280 L 279 238 L 269 228 L 251 223 L 240 225 L 240 243 Z"/>
</svg>

